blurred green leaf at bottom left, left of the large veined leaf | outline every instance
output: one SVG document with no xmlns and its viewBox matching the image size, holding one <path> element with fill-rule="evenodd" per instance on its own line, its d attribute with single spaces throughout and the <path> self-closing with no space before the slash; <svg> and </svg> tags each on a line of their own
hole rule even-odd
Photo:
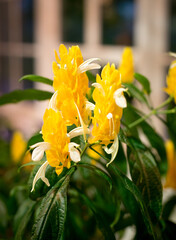
<svg viewBox="0 0 176 240">
<path fill-rule="evenodd" d="M 17 232 L 15 234 L 15 240 L 22 240 L 23 234 L 25 232 L 25 229 L 31 220 L 31 216 L 33 214 L 33 210 L 35 207 L 35 202 L 31 200 L 27 200 L 23 203 L 23 205 L 19 208 L 17 215 L 15 216 L 15 220 L 17 221 L 18 228 Z M 16 228 L 17 226 L 15 226 Z"/>
</svg>

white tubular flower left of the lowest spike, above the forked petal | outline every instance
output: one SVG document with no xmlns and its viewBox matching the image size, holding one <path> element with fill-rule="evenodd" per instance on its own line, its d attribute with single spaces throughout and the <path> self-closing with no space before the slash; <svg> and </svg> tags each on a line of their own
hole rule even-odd
<svg viewBox="0 0 176 240">
<path fill-rule="evenodd" d="M 32 161 L 40 161 L 43 158 L 44 152 L 50 149 L 50 144 L 47 142 L 39 142 L 30 146 L 30 148 L 35 148 L 32 152 Z"/>
</svg>

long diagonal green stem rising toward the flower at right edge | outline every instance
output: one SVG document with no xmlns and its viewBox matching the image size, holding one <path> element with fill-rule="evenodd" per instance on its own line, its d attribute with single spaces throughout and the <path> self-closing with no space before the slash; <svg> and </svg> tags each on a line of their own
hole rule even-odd
<svg viewBox="0 0 176 240">
<path fill-rule="evenodd" d="M 128 128 L 133 128 L 135 126 L 137 126 L 139 123 L 145 121 L 147 118 L 149 118 L 150 116 L 157 114 L 157 111 L 160 110 L 161 108 L 165 107 L 168 103 L 170 103 L 172 101 L 172 97 L 169 97 L 165 102 L 163 102 L 161 105 L 159 105 L 158 107 L 156 107 L 155 109 L 153 109 L 151 112 L 149 112 L 148 114 L 146 114 L 145 116 L 137 119 L 136 121 L 134 121 L 133 123 L 131 123 Z"/>
</svg>

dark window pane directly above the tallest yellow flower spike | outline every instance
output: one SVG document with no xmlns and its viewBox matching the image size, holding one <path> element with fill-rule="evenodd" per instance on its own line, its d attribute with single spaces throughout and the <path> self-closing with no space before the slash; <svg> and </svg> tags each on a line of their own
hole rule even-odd
<svg viewBox="0 0 176 240">
<path fill-rule="evenodd" d="M 63 41 L 83 41 L 83 0 L 63 1 Z"/>
</svg>

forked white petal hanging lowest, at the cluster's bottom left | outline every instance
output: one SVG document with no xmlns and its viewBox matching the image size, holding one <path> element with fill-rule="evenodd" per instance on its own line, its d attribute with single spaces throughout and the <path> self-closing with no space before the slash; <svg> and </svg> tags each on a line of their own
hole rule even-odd
<svg viewBox="0 0 176 240">
<path fill-rule="evenodd" d="M 44 162 L 42 164 L 42 166 L 39 168 L 39 170 L 37 171 L 35 177 L 34 177 L 34 180 L 33 180 L 33 183 L 32 183 L 32 191 L 34 191 L 34 187 L 35 187 L 35 184 L 36 182 L 41 178 L 41 180 L 49 187 L 50 186 L 50 183 L 48 181 L 48 179 L 45 177 L 45 171 L 46 171 L 46 167 L 48 166 L 48 162 Z"/>
</svg>

